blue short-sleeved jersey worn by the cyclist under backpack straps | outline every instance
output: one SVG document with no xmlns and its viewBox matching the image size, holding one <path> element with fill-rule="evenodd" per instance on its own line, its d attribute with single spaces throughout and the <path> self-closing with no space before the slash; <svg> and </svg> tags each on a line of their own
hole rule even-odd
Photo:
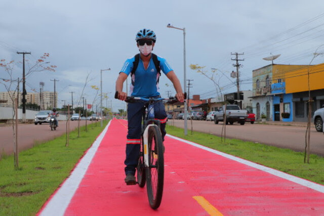
<svg viewBox="0 0 324 216">
<path fill-rule="evenodd" d="M 160 69 L 164 74 L 169 73 L 173 69 L 168 64 L 168 62 L 159 56 L 157 60 L 160 62 Z M 135 61 L 135 56 L 133 58 L 127 59 L 124 63 L 123 68 L 121 68 L 120 73 L 126 73 L 129 75 L 133 70 L 133 62 Z M 159 73 L 154 66 L 153 59 L 151 57 L 147 69 L 145 70 L 144 64 L 141 58 L 139 58 L 139 63 L 134 74 L 132 74 L 132 83 L 130 85 L 130 95 L 134 97 L 149 98 L 160 95 L 158 93 L 158 78 Z"/>
</svg>

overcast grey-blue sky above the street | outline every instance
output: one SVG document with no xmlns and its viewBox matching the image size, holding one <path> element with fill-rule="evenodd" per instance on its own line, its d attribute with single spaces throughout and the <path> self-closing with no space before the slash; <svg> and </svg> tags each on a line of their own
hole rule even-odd
<svg viewBox="0 0 324 216">
<path fill-rule="evenodd" d="M 135 35 L 150 28 L 157 35 L 153 53 L 164 57 L 183 85 L 183 32 L 167 28 L 171 23 L 186 28 L 187 79 L 193 79 L 190 95 L 215 97 L 211 80 L 190 70 L 190 64 L 217 68 L 226 76 L 220 79 L 224 93 L 236 92 L 235 79 L 229 73 L 234 56 L 239 56 L 240 89 L 252 90 L 252 70 L 270 64 L 262 58 L 281 54 L 276 64 L 309 64 L 312 53 L 324 44 L 324 1 L 1 1 L 0 59 L 22 61 L 16 52 L 30 62 L 49 53 L 56 72 L 34 72 L 27 77 L 27 92 L 54 91 L 56 84 L 59 105 L 74 104 L 82 92 L 88 73 L 87 102 L 96 93 L 90 85 L 100 86 L 103 72 L 103 93 L 109 93 L 114 111 L 125 108 L 125 102 L 113 99 L 115 80 L 125 60 L 138 53 Z M 324 46 L 323 46 L 324 48 Z M 324 51 L 324 49 L 320 49 Z M 314 63 L 322 63 L 319 56 Z M 4 77 L 4 71 L 0 71 Z M 17 64 L 15 77 L 22 76 Z M 221 73 L 219 73 L 221 75 Z M 169 87 L 166 85 L 169 84 Z M 171 81 L 160 78 L 160 93 L 174 95 Z M 124 84 L 126 91 L 126 83 Z M 0 91 L 5 91 L 0 86 Z M 97 100 L 99 103 L 100 100 Z M 103 102 L 106 105 L 106 102 Z M 75 105 L 74 105 L 75 106 Z"/>
</svg>

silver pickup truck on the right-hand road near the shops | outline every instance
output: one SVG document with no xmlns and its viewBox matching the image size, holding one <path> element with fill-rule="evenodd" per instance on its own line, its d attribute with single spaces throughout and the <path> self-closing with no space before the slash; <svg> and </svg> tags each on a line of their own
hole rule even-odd
<svg viewBox="0 0 324 216">
<path fill-rule="evenodd" d="M 222 106 L 214 116 L 215 124 L 218 124 L 219 121 L 224 121 L 224 110 L 225 106 Z M 235 121 L 241 125 L 245 124 L 245 119 L 248 116 L 247 110 L 241 110 L 238 105 L 231 104 L 226 105 L 226 124 L 233 124 Z"/>
</svg>

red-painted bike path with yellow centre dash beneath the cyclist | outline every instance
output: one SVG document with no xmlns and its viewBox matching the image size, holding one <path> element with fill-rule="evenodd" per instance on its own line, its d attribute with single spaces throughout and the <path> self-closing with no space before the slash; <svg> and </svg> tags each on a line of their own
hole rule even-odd
<svg viewBox="0 0 324 216">
<path fill-rule="evenodd" d="M 66 180 L 39 214 L 324 215 L 324 186 L 172 137 L 165 140 L 163 199 L 153 210 L 146 187 L 124 183 L 126 134 L 127 121 L 113 119 L 89 150 L 80 182 Z"/>
</svg>

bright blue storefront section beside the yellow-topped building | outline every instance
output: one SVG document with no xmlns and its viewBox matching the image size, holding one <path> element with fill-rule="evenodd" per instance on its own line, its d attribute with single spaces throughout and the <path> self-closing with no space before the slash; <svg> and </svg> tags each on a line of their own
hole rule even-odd
<svg viewBox="0 0 324 216">
<path fill-rule="evenodd" d="M 286 83 L 271 84 L 271 94 L 273 95 L 272 120 L 293 121 L 293 94 L 286 94 Z"/>
</svg>

